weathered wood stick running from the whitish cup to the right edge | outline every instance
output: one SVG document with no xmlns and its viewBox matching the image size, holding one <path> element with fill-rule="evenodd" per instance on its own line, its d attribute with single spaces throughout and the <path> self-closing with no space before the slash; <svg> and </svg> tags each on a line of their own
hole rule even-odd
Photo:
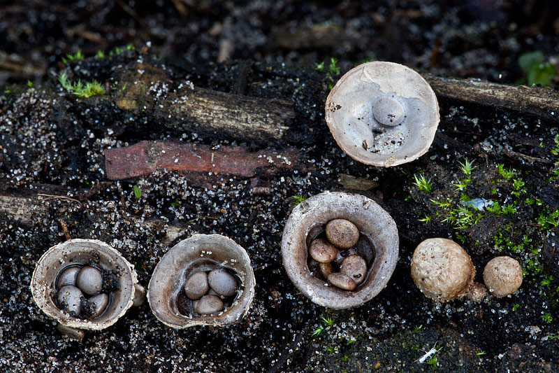
<svg viewBox="0 0 559 373">
<path fill-rule="evenodd" d="M 483 80 L 441 78 L 423 74 L 437 97 L 456 104 L 477 104 L 535 115 L 542 120 L 559 122 L 559 91 L 548 87 L 504 85 Z"/>
</svg>

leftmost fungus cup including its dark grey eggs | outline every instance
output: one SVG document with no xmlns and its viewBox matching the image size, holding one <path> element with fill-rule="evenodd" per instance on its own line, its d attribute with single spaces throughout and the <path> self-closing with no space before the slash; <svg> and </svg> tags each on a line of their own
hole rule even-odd
<svg viewBox="0 0 559 373">
<path fill-rule="evenodd" d="M 71 239 L 48 249 L 37 262 L 31 294 L 64 334 L 78 339 L 81 330 L 107 328 L 145 299 L 133 266 L 94 239 Z"/>
</svg>

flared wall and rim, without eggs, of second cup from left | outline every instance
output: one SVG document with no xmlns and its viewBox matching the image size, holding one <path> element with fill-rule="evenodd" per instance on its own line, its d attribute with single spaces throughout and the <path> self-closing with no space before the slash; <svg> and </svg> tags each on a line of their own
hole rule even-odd
<svg viewBox="0 0 559 373">
<path fill-rule="evenodd" d="M 231 307 L 210 315 L 185 315 L 177 299 L 187 277 L 196 272 L 224 268 L 240 281 Z M 154 316 L 170 328 L 196 325 L 223 326 L 243 318 L 254 297 L 254 272 L 242 246 L 220 234 L 194 234 L 180 241 L 163 255 L 147 288 L 147 300 Z"/>
</svg>

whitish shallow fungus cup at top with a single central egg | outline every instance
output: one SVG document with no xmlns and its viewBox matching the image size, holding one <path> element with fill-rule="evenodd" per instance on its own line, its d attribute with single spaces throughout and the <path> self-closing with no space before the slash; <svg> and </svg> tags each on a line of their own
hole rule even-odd
<svg viewBox="0 0 559 373">
<path fill-rule="evenodd" d="M 391 167 L 425 154 L 439 125 L 435 92 L 419 73 L 393 62 L 367 62 L 337 81 L 326 124 L 358 162 Z"/>
</svg>

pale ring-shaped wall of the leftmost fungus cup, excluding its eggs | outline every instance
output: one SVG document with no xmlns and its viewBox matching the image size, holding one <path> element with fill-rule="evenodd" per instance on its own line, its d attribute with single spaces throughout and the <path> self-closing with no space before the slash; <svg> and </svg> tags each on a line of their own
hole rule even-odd
<svg viewBox="0 0 559 373">
<path fill-rule="evenodd" d="M 109 304 L 100 316 L 76 318 L 57 306 L 57 277 L 68 266 L 92 264 L 115 274 L 118 289 L 110 293 Z M 71 239 L 52 246 L 38 260 L 31 278 L 31 294 L 45 314 L 64 327 L 85 330 L 101 330 L 116 323 L 133 305 L 135 297 L 141 297 L 141 290 L 133 265 L 115 248 L 95 239 Z"/>
</svg>

